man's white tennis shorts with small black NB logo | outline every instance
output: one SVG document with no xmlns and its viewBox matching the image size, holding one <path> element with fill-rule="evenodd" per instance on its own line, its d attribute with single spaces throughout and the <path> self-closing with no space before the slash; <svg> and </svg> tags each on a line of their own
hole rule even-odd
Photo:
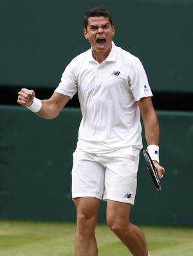
<svg viewBox="0 0 193 256">
<path fill-rule="evenodd" d="M 105 154 L 73 153 L 72 197 L 96 197 L 134 204 L 140 149 Z"/>
</svg>

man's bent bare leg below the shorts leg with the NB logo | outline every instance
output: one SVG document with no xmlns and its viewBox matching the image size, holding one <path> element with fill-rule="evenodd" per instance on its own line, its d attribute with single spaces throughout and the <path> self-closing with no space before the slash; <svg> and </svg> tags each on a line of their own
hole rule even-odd
<svg viewBox="0 0 193 256">
<path fill-rule="evenodd" d="M 130 210 L 131 204 L 109 200 L 107 224 L 133 256 L 148 256 L 147 242 L 142 230 L 129 222 Z"/>
</svg>

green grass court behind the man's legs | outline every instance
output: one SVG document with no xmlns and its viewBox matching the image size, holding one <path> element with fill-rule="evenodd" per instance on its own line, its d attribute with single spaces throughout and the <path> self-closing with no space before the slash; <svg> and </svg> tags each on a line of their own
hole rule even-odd
<svg viewBox="0 0 193 256">
<path fill-rule="evenodd" d="M 193 227 L 141 226 L 151 256 L 192 256 Z M 0 221 L 0 256 L 74 256 L 75 224 Z M 106 224 L 96 228 L 99 256 L 131 255 Z"/>
</svg>

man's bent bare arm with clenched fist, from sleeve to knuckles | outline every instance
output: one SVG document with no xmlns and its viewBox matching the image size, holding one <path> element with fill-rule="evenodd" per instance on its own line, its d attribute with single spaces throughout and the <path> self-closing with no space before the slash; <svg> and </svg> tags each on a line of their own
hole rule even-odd
<svg viewBox="0 0 193 256">
<path fill-rule="evenodd" d="M 17 103 L 21 104 L 21 106 L 30 107 L 37 101 L 39 108 L 37 108 L 38 111 L 35 111 L 35 113 L 45 119 L 54 119 L 59 115 L 66 103 L 68 103 L 69 99 L 70 97 L 67 95 L 54 92 L 50 99 L 40 101 L 35 98 L 35 92 L 33 90 L 23 88 L 18 93 Z"/>
</svg>

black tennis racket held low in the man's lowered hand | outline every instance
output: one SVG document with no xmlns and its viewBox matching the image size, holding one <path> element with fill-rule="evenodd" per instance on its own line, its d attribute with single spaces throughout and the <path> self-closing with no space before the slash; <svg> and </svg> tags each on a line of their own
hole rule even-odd
<svg viewBox="0 0 193 256">
<path fill-rule="evenodd" d="M 160 191 L 161 190 L 161 183 L 160 179 L 158 177 L 158 172 L 156 170 L 156 167 L 154 166 L 154 163 L 151 160 L 151 157 L 147 150 L 143 150 L 143 156 L 145 157 L 145 162 L 147 164 L 147 170 L 149 170 L 152 181 L 154 182 L 154 185 L 156 186 L 156 190 Z"/>
</svg>

